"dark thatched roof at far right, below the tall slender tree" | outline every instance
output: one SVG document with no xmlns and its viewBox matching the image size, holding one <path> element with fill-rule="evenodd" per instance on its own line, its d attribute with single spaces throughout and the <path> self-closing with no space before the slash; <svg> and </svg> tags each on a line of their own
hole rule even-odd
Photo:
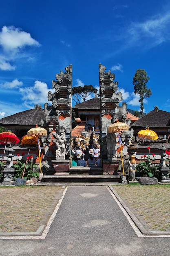
<svg viewBox="0 0 170 256">
<path fill-rule="evenodd" d="M 170 126 L 170 112 L 155 109 L 132 124 L 133 129 L 138 127 L 145 129 L 146 126 L 149 128 Z"/>
</svg>

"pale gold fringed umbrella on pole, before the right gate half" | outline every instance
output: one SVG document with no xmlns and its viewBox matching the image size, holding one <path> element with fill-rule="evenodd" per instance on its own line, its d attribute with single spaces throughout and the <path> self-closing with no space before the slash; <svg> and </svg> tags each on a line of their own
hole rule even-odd
<svg viewBox="0 0 170 256">
<path fill-rule="evenodd" d="M 116 123 L 111 124 L 108 127 L 108 132 L 109 133 L 115 133 L 115 132 L 125 132 L 129 130 L 129 126 L 126 123 L 123 122 L 119 122 L 119 120 L 117 119 Z M 118 134 L 119 137 L 119 144 L 120 144 L 120 153 L 121 153 L 121 164 L 122 164 L 122 169 L 123 169 L 123 175 L 124 175 L 124 162 L 123 162 L 123 157 L 122 157 L 122 150 L 121 150 L 121 145 L 123 144 L 121 141 L 121 138 Z"/>
</svg>

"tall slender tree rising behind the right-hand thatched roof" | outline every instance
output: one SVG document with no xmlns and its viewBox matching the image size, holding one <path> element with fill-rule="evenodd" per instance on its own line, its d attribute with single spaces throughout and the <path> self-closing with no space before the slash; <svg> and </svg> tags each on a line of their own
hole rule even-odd
<svg viewBox="0 0 170 256">
<path fill-rule="evenodd" d="M 141 108 L 141 116 L 144 116 L 143 110 L 144 110 L 144 99 L 149 98 L 150 95 L 152 95 L 151 89 L 147 87 L 146 83 L 148 83 L 148 80 L 150 79 L 149 76 L 147 76 L 147 73 L 145 70 L 137 70 L 135 76 L 133 77 L 133 85 L 134 85 L 134 93 L 139 94 L 139 102 L 140 102 L 140 108 Z"/>
</svg>

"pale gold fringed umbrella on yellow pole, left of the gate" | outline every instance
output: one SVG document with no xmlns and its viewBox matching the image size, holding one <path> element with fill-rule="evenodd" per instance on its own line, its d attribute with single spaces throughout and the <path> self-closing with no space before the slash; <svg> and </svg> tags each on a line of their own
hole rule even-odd
<svg viewBox="0 0 170 256">
<path fill-rule="evenodd" d="M 36 124 L 36 127 L 29 129 L 27 134 L 30 135 L 30 136 L 36 136 L 36 137 L 39 138 L 42 135 L 46 136 L 47 135 L 47 130 L 44 129 L 43 127 L 38 127 L 38 124 Z M 38 153 L 39 153 L 39 159 L 40 159 L 40 173 L 42 173 L 40 152 L 41 152 L 41 147 L 40 147 L 40 141 L 38 139 Z"/>
</svg>

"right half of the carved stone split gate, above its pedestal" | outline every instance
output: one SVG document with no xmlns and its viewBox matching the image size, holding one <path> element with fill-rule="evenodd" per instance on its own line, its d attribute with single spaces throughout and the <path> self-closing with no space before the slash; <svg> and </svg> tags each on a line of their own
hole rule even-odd
<svg viewBox="0 0 170 256">
<path fill-rule="evenodd" d="M 128 124 L 131 120 L 126 120 L 127 104 L 124 102 L 119 106 L 120 101 L 123 101 L 121 92 L 117 92 L 118 82 L 115 80 L 115 74 L 112 74 L 109 70 L 105 72 L 106 67 L 99 64 L 99 85 L 100 85 L 100 109 L 101 109 L 101 148 L 102 148 L 102 158 L 103 161 L 117 164 L 117 149 L 119 148 L 117 144 L 117 135 L 108 133 L 108 127 L 115 123 L 117 119 L 120 122 Z M 132 137 L 132 135 L 131 135 Z M 130 140 L 130 139 L 129 139 Z M 105 162 L 103 164 L 105 165 Z M 119 162 L 119 161 L 118 161 Z M 119 165 L 119 164 L 118 164 Z M 116 166 L 114 165 L 114 168 Z"/>
</svg>

